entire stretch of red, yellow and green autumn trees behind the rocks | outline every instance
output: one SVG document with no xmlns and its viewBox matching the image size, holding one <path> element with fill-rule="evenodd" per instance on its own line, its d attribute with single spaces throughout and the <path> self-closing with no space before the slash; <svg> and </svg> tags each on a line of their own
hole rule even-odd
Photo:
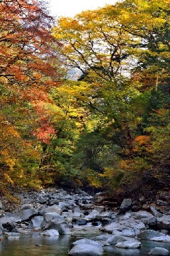
<svg viewBox="0 0 170 256">
<path fill-rule="evenodd" d="M 44 1 L 0 1 L 1 195 L 169 188 L 169 5 L 125 0 L 56 22 Z"/>
</svg>

